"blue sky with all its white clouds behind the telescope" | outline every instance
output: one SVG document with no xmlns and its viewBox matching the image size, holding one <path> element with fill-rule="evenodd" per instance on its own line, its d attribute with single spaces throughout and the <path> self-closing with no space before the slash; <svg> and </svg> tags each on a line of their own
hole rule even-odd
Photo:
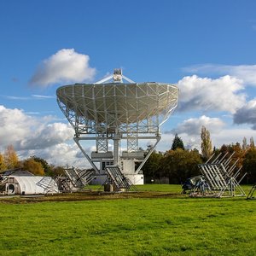
<svg viewBox="0 0 256 256">
<path fill-rule="evenodd" d="M 55 91 L 122 68 L 176 84 L 178 106 L 157 150 L 256 139 L 256 1 L 0 0 L 0 152 L 88 166 Z M 86 145 L 90 152 L 94 145 Z"/>
</svg>

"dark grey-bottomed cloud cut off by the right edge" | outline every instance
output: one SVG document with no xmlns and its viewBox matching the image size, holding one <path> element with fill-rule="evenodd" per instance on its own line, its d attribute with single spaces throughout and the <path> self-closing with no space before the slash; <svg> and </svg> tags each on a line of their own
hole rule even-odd
<svg viewBox="0 0 256 256">
<path fill-rule="evenodd" d="M 242 108 L 238 109 L 234 114 L 234 123 L 237 125 L 248 124 L 253 125 L 256 130 L 256 99 L 247 102 Z"/>
</svg>

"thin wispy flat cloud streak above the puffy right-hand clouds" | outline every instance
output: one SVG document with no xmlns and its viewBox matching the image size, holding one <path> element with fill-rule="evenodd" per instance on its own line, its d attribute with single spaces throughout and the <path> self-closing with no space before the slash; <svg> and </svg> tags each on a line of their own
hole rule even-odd
<svg viewBox="0 0 256 256">
<path fill-rule="evenodd" d="M 256 65 L 218 65 L 218 64 L 201 64 L 191 67 L 184 67 L 184 71 L 189 73 L 201 74 L 219 74 L 230 75 L 241 79 L 243 83 L 256 86 Z"/>
</svg>

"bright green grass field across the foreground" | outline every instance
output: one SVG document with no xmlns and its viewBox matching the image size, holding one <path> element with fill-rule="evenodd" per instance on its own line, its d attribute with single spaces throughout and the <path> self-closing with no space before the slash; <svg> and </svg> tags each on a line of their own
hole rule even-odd
<svg viewBox="0 0 256 256">
<path fill-rule="evenodd" d="M 256 255 L 256 201 L 140 190 L 149 192 L 0 200 L 0 255 Z"/>
</svg>

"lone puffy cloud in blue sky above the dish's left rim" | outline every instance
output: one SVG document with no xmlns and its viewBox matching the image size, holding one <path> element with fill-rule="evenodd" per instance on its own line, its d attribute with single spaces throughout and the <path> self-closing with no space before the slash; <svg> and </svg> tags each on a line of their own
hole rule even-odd
<svg viewBox="0 0 256 256">
<path fill-rule="evenodd" d="M 89 55 L 79 54 L 74 49 L 61 49 L 41 63 L 32 75 L 30 84 L 46 87 L 58 83 L 90 81 L 96 69 L 90 67 L 89 61 Z"/>
</svg>

